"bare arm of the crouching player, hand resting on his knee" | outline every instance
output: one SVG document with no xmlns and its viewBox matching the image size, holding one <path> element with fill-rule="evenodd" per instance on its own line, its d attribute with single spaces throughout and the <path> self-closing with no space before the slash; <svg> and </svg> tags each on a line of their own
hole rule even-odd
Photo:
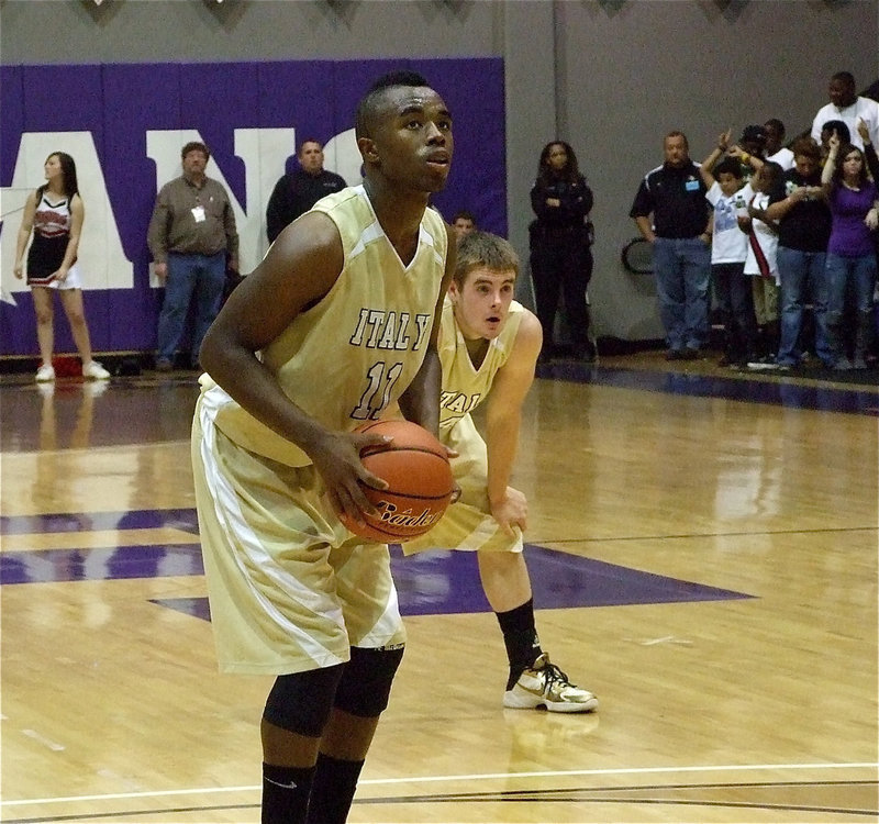
<svg viewBox="0 0 879 824">
<path fill-rule="evenodd" d="M 509 534 L 512 534 L 513 524 L 524 530 L 527 516 L 525 495 L 509 483 L 519 447 L 522 404 L 534 382 L 534 368 L 542 343 L 541 324 L 526 310 L 510 357 L 494 376 L 488 396 L 488 500 L 492 516 Z"/>
</svg>

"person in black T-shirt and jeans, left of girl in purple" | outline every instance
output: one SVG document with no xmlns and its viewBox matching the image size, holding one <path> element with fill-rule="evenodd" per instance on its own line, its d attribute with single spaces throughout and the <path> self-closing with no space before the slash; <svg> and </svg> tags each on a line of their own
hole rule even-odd
<svg viewBox="0 0 879 824">
<path fill-rule="evenodd" d="M 800 365 L 803 309 L 811 296 L 815 320 L 815 354 L 835 366 L 827 339 L 827 288 L 824 264 L 831 235 L 831 213 L 821 186 L 821 149 L 811 137 L 791 146 L 793 168 L 781 176 L 769 197 L 767 223 L 778 221 L 778 275 L 781 285 L 781 339 L 775 368 Z"/>
</svg>

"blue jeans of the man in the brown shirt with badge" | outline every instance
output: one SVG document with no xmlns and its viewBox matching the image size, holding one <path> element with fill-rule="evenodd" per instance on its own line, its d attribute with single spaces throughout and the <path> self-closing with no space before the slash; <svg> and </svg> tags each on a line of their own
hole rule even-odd
<svg viewBox="0 0 879 824">
<path fill-rule="evenodd" d="M 158 360 L 174 363 L 194 294 L 196 327 L 192 332 L 191 357 L 196 364 L 204 333 L 220 311 L 225 277 L 225 252 L 215 255 L 168 254 L 165 302 L 158 316 Z"/>
</svg>

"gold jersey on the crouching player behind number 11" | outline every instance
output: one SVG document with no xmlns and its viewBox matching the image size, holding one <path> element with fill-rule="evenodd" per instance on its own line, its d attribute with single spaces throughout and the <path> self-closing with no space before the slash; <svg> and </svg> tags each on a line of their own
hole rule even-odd
<svg viewBox="0 0 879 824">
<path fill-rule="evenodd" d="M 452 301 L 446 298 L 439 330 L 439 360 L 443 364 L 443 392 L 439 396 L 439 430 L 448 431 L 472 412 L 491 389 L 494 376 L 510 357 L 515 343 L 523 307 L 513 301 L 507 323 L 490 342 L 485 360 L 477 369 L 470 360 L 467 344 L 455 323 Z"/>
</svg>

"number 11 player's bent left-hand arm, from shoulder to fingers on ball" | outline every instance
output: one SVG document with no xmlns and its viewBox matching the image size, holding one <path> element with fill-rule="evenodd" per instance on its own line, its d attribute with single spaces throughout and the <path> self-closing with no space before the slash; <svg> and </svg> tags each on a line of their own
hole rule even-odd
<svg viewBox="0 0 879 824">
<path fill-rule="evenodd" d="M 343 263 L 338 231 L 326 215 L 314 213 L 291 224 L 231 294 L 204 336 L 199 360 L 244 409 L 305 452 L 336 511 L 360 520 L 361 511 L 375 508 L 358 479 L 379 489 L 387 485 L 367 471 L 359 450 L 385 438 L 329 431 L 283 393 L 256 356 L 330 291 Z"/>
</svg>

